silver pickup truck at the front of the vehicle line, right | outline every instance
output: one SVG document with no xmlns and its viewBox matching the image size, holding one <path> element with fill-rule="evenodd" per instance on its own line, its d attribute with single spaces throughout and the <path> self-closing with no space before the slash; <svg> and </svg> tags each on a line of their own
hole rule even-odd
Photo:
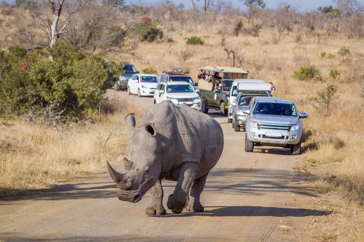
<svg viewBox="0 0 364 242">
<path fill-rule="evenodd" d="M 302 123 L 306 113 L 299 113 L 294 102 L 273 97 L 256 97 L 244 109 L 246 122 L 245 151 L 254 145 L 291 148 L 294 155 L 301 153 Z"/>
</svg>

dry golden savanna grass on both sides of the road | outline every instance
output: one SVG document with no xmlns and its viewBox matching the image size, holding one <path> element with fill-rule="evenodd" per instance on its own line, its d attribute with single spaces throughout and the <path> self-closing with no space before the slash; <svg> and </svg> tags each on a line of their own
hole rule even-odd
<svg viewBox="0 0 364 242">
<path fill-rule="evenodd" d="M 201 13 L 203 14 L 203 13 Z M 131 62 L 138 70 L 165 65 L 187 66 L 195 78 L 200 65 L 232 66 L 239 61 L 248 78 L 273 82 L 273 96 L 292 100 L 306 112 L 302 155 L 318 202 L 332 211 L 318 241 L 364 241 L 364 39 L 337 32 L 302 32 L 294 26 L 281 40 L 264 27 L 258 34 L 221 33 L 224 21 L 194 23 L 181 29 L 159 25 L 166 39 L 138 43 L 134 55 L 108 53 L 106 59 Z M 242 19 L 244 19 L 242 17 Z M 168 19 L 166 18 L 165 21 Z M 221 21 L 220 21 L 221 20 Z M 256 20 L 257 21 L 257 20 Z M 230 26 L 231 28 L 233 26 Z M 232 28 L 231 28 L 232 29 Z M 203 45 L 186 45 L 198 36 Z M 222 43 L 223 42 L 223 43 Z M 227 51 L 228 49 L 228 51 Z M 308 80 L 293 77 L 300 66 L 319 73 Z M 327 95 L 319 95 L 335 87 Z M 104 168 L 106 159 L 128 153 L 128 132 L 123 120 L 143 110 L 130 104 L 105 103 L 98 117 L 82 123 L 45 128 L 18 117 L 2 118 L 0 125 L 0 196 L 16 196 Z"/>
</svg>

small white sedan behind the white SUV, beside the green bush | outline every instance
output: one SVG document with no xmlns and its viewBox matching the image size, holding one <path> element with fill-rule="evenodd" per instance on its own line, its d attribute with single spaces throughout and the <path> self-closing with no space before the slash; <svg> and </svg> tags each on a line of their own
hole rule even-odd
<svg viewBox="0 0 364 242">
<path fill-rule="evenodd" d="M 153 74 L 135 74 L 128 81 L 128 94 L 138 96 L 153 96 L 158 85 L 158 76 Z"/>
</svg>

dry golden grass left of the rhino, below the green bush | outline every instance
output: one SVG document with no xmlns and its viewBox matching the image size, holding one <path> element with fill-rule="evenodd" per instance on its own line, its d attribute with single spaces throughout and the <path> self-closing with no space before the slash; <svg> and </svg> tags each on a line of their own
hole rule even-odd
<svg viewBox="0 0 364 242">
<path fill-rule="evenodd" d="M 115 102 L 112 105 L 107 105 L 112 112 L 96 122 L 56 129 L 20 119 L 1 121 L 0 197 L 98 173 L 104 171 L 106 160 L 127 156 L 124 118 L 135 112 L 135 107 Z"/>
</svg>

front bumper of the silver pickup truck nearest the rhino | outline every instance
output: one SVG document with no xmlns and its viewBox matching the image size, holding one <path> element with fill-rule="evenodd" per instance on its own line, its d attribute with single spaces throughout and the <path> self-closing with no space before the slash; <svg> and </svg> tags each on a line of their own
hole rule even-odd
<svg viewBox="0 0 364 242">
<path fill-rule="evenodd" d="M 263 131 L 258 129 L 248 129 L 248 140 L 255 143 L 272 144 L 272 145 L 297 145 L 301 140 L 302 131 L 291 132 L 277 132 L 277 131 Z"/>
</svg>

